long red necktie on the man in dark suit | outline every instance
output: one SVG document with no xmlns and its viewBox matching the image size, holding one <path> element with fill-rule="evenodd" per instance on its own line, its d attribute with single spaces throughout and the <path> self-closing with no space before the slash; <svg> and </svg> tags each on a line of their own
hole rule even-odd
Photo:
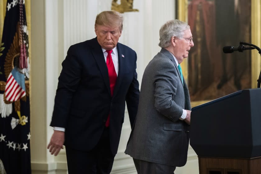
<svg viewBox="0 0 261 174">
<path fill-rule="evenodd" d="M 107 60 L 106 60 L 106 65 L 108 67 L 108 74 L 109 74 L 109 80 L 110 80 L 110 88 L 111 88 L 111 95 L 113 95 L 113 90 L 114 90 L 114 86 L 117 80 L 117 74 L 112 62 L 112 50 L 106 50 L 106 52 L 108 53 L 107 55 Z M 110 125 L 110 114 L 107 118 L 107 121 L 105 123 L 105 126 L 108 127 Z"/>
</svg>

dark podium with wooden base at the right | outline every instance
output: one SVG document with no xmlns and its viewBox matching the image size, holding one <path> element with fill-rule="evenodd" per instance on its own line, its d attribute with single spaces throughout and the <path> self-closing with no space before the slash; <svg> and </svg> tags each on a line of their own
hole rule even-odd
<svg viewBox="0 0 261 174">
<path fill-rule="evenodd" d="M 192 108 L 190 145 L 200 174 L 261 174 L 261 88 Z"/>
</svg>

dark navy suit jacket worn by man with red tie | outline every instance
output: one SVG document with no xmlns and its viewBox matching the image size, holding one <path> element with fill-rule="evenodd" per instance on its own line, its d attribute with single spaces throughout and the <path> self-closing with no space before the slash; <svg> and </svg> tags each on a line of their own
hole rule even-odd
<svg viewBox="0 0 261 174">
<path fill-rule="evenodd" d="M 119 71 L 111 96 L 108 68 L 97 38 L 72 45 L 59 76 L 50 126 L 65 128 L 65 146 L 89 151 L 100 139 L 110 114 L 110 145 L 117 153 L 124 121 L 125 101 L 131 126 L 138 102 L 137 55 L 118 43 Z"/>
</svg>

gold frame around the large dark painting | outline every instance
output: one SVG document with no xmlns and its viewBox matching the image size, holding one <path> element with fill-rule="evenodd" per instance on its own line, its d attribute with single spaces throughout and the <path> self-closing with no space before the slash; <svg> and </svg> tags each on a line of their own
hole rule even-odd
<svg viewBox="0 0 261 174">
<path fill-rule="evenodd" d="M 188 0 L 177 0 L 177 19 L 188 22 Z M 251 0 L 251 43 L 261 46 L 261 1 Z M 189 57 L 188 57 L 189 59 Z M 188 59 L 182 63 L 182 71 L 185 80 L 188 80 Z M 251 50 L 251 88 L 257 88 L 257 79 L 261 69 L 261 59 L 257 50 Z M 189 82 L 188 82 L 189 83 Z M 191 102 L 195 107 L 210 100 Z"/>
</svg>

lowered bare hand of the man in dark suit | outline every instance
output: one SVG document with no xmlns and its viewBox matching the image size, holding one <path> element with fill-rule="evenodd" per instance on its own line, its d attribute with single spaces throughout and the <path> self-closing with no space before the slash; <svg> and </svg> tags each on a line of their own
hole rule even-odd
<svg viewBox="0 0 261 174">
<path fill-rule="evenodd" d="M 50 143 L 47 146 L 47 149 L 50 148 L 49 152 L 56 156 L 61 149 L 63 149 L 64 143 L 64 132 L 63 131 L 54 131 Z"/>
</svg>

